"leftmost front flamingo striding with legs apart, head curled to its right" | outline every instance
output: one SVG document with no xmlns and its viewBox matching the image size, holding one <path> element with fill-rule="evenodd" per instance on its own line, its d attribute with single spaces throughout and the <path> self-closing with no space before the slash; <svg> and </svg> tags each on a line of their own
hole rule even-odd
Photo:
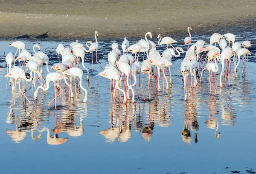
<svg viewBox="0 0 256 174">
<path fill-rule="evenodd" d="M 29 82 L 29 81 L 32 81 L 32 76 L 30 76 L 30 79 L 27 79 L 25 71 L 22 68 L 20 68 L 20 67 L 15 67 L 14 66 L 14 67 L 12 67 L 10 72 L 7 73 L 4 77 L 5 78 L 9 77 L 10 78 L 10 82 L 13 81 L 13 79 L 15 79 L 15 90 L 16 90 L 16 82 L 18 80 L 20 93 L 22 93 L 22 95 L 25 96 L 25 98 L 29 101 L 29 99 L 26 97 L 26 95 L 24 95 L 24 93 L 20 89 L 20 79 Z M 16 91 L 14 93 L 14 104 L 15 104 L 15 99 L 16 99 Z M 30 101 L 29 101 L 29 104 L 31 104 Z"/>
</svg>

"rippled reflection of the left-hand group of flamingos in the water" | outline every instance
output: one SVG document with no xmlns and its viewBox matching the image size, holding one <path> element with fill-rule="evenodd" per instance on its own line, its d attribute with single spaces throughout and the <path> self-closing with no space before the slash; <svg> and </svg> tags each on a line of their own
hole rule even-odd
<svg viewBox="0 0 256 174">
<path fill-rule="evenodd" d="M 21 109 L 22 112 L 20 115 L 16 115 L 16 112 L 9 109 L 6 122 L 15 124 L 16 129 L 14 130 L 6 130 L 6 134 L 9 135 L 15 143 L 19 143 L 20 141 L 26 138 L 27 132 L 31 132 L 32 140 L 40 140 L 42 132 L 47 131 L 47 144 L 49 145 L 59 145 L 67 142 L 68 138 L 60 138 L 59 134 L 63 132 L 67 132 L 68 135 L 72 137 L 77 137 L 83 135 L 83 118 L 84 116 L 79 117 L 79 126 L 77 126 L 77 111 L 71 110 L 71 107 L 65 108 L 63 111 L 54 111 L 54 115 L 49 112 L 43 112 L 43 105 L 38 105 L 35 108 L 29 107 Z M 86 105 L 80 106 L 82 108 L 82 114 L 87 115 Z M 85 108 L 84 108 L 85 107 Z M 73 109 L 73 107 L 72 107 Z M 57 114 L 57 112 L 59 112 Z M 44 115 L 44 116 L 43 116 Z M 46 116 L 47 115 L 47 116 Z M 59 115 L 59 116 L 58 116 Z M 49 122 L 48 118 L 55 118 L 55 128 L 51 131 L 48 127 L 42 127 L 45 124 L 43 122 Z M 37 137 L 34 136 L 35 130 L 38 131 Z M 54 135 L 50 135 L 50 132 L 54 133 Z"/>
</svg>

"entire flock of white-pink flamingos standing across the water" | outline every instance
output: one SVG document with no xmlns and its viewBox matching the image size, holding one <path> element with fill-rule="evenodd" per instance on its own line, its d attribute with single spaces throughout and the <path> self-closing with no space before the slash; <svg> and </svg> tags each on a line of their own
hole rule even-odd
<svg viewBox="0 0 256 174">
<path fill-rule="evenodd" d="M 95 36 L 96 42 L 87 41 L 85 44 L 87 48 L 85 48 L 83 44 L 79 43 L 78 40 L 76 40 L 76 42 L 71 43 L 70 47 L 67 47 L 67 48 L 64 48 L 63 44 L 58 45 L 56 52 L 58 53 L 59 63 L 56 63 L 50 68 L 51 70 L 56 71 L 54 73 L 49 72 L 49 67 L 48 67 L 49 58 L 45 53 L 41 51 L 41 48 L 38 44 L 33 46 L 34 55 L 32 56 L 28 51 L 26 51 L 25 44 L 23 42 L 17 41 L 17 42 L 10 43 L 9 44 L 10 46 L 17 48 L 17 51 L 19 50 L 19 55 L 17 56 L 17 58 L 15 57 L 17 54 L 17 51 L 14 56 L 12 55 L 12 52 L 6 55 L 6 62 L 9 67 L 9 70 L 7 68 L 8 73 L 6 74 L 5 77 L 10 78 L 9 85 L 12 86 L 12 90 L 16 90 L 16 83 L 19 84 L 20 93 L 23 96 L 25 96 L 25 98 L 28 101 L 29 99 L 25 95 L 26 89 L 25 89 L 25 92 L 22 92 L 21 90 L 21 87 L 20 87 L 21 81 L 23 82 L 32 81 L 32 84 L 35 87 L 35 92 L 33 95 L 34 99 L 37 99 L 39 89 L 47 91 L 49 89 L 49 82 L 53 81 L 55 95 L 52 101 L 55 101 L 55 109 L 56 109 L 56 98 L 64 92 L 61 88 L 61 82 L 60 82 L 62 79 L 65 81 L 65 87 L 67 85 L 69 89 L 68 90 L 69 97 L 73 98 L 74 97 L 74 93 L 72 90 L 73 80 L 79 77 L 79 84 L 76 84 L 76 82 L 74 83 L 75 91 L 80 86 L 80 88 L 85 92 L 85 97 L 83 102 L 84 103 L 87 102 L 87 90 L 82 86 L 83 71 L 79 66 L 80 65 L 79 60 L 81 59 L 82 67 L 85 70 L 87 70 L 87 80 L 89 80 L 90 79 L 89 70 L 84 65 L 84 58 L 85 58 L 86 52 L 90 52 L 92 54 L 92 64 L 93 64 L 93 52 L 96 53 L 96 62 L 99 64 L 99 66 L 103 70 L 101 73 L 97 74 L 97 76 L 102 76 L 111 80 L 111 84 L 110 84 L 111 102 L 112 102 L 112 98 L 113 98 L 113 101 L 116 102 L 115 101 L 116 90 L 119 90 L 123 93 L 123 100 L 120 92 L 119 92 L 119 95 L 120 95 L 121 102 L 123 102 L 124 104 L 127 102 L 127 100 L 130 100 L 130 99 L 132 103 L 135 102 L 135 93 L 134 93 L 133 87 L 136 86 L 136 83 L 137 83 L 136 75 L 137 74 L 140 75 L 140 73 L 143 73 L 143 78 L 144 78 L 144 74 L 148 74 L 148 93 L 150 91 L 149 87 L 150 87 L 151 78 L 155 79 L 156 88 L 158 91 L 160 91 L 161 90 L 160 69 L 161 69 L 162 76 L 163 76 L 162 90 L 164 93 L 165 84 L 166 84 L 166 89 L 169 89 L 169 84 L 172 85 L 171 68 L 174 68 L 183 76 L 184 100 L 188 100 L 190 91 L 192 90 L 192 88 L 197 87 L 197 83 L 198 83 L 197 79 L 199 78 L 200 81 L 202 80 L 202 73 L 204 72 L 204 70 L 209 71 L 208 80 L 209 80 L 211 95 L 212 95 L 211 87 L 214 88 L 216 93 L 216 89 L 212 84 L 212 72 L 214 74 L 218 72 L 219 68 L 218 68 L 217 62 L 219 61 L 221 61 L 220 87 L 223 87 L 221 80 L 222 80 L 222 76 L 224 76 L 224 73 L 225 73 L 224 61 L 226 62 L 225 82 L 226 82 L 227 76 L 229 76 L 229 81 L 230 81 L 232 57 L 234 62 L 235 76 L 237 76 L 236 71 L 237 71 L 237 67 L 239 66 L 240 59 L 242 59 L 243 61 L 243 74 L 244 74 L 244 62 L 245 62 L 246 56 L 248 59 L 248 55 L 251 55 L 250 51 L 248 50 L 248 48 L 250 48 L 251 46 L 250 41 L 246 40 L 241 44 L 240 42 L 235 42 L 236 36 L 234 34 L 227 33 L 222 35 L 222 34 L 214 33 L 210 37 L 209 44 L 206 44 L 204 40 L 198 40 L 197 42 L 195 42 L 195 44 L 189 46 L 192 42 L 190 30 L 192 30 L 192 28 L 188 27 L 189 37 L 186 37 L 184 39 L 184 43 L 187 47 L 187 51 L 186 51 L 185 58 L 181 62 L 180 71 L 172 67 L 172 56 L 179 57 L 180 53 L 184 53 L 183 49 L 180 47 L 177 47 L 177 48 L 173 47 L 172 44 L 177 43 L 177 41 L 175 41 L 171 37 L 166 36 L 162 38 L 162 36 L 159 34 L 157 36 L 158 45 L 166 45 L 166 50 L 163 51 L 162 54 L 160 54 L 156 49 L 156 44 L 150 40 L 152 38 L 151 32 L 147 32 L 145 34 L 145 39 L 141 39 L 139 42 L 133 45 L 130 45 L 130 42 L 128 41 L 128 39 L 124 38 L 124 41 L 122 42 L 122 45 L 121 45 L 122 55 L 121 55 L 121 51 L 119 50 L 119 45 L 117 43 L 113 43 L 111 45 L 112 51 L 108 53 L 109 64 L 106 65 L 104 68 L 102 68 L 102 66 L 99 64 L 97 59 L 98 32 L 95 31 L 94 36 Z M 150 37 L 150 39 L 148 39 L 148 36 Z M 232 48 L 230 47 L 230 42 L 232 42 Z M 219 45 L 220 48 L 217 47 L 216 43 Z M 168 48 L 168 45 L 171 45 L 172 48 Z M 38 48 L 39 51 L 35 51 L 35 48 Z M 177 54 L 175 54 L 175 51 L 177 52 Z M 144 53 L 143 62 L 139 61 L 140 52 Z M 146 59 L 144 58 L 145 53 L 146 53 Z M 202 55 L 200 55 L 201 53 Z M 132 54 L 134 54 L 134 56 L 132 56 Z M 61 59 L 60 59 L 60 55 L 61 55 Z M 205 55 L 205 58 L 204 58 L 204 55 Z M 15 61 L 17 60 L 19 60 L 19 66 L 15 66 Z M 23 64 L 21 65 L 20 62 Z M 46 64 L 46 68 L 48 71 L 46 79 L 42 74 L 43 64 Z M 206 64 L 206 66 L 204 66 L 203 64 Z M 166 68 L 168 68 L 168 71 L 169 71 L 169 82 L 168 82 L 168 79 L 166 78 L 166 73 L 167 73 Z M 27 72 L 28 70 L 30 70 L 29 73 Z M 189 90 L 189 73 L 191 74 L 190 90 Z M 122 82 L 122 76 L 124 76 L 123 89 L 120 88 L 120 83 Z M 132 76 L 134 78 L 133 84 L 131 84 Z M 129 82 L 129 79 L 130 79 L 130 82 Z M 194 79 L 194 83 L 193 83 L 193 79 Z M 39 81 L 40 83 L 40 86 L 38 87 L 37 87 L 37 81 Z M 224 85 L 225 85 L 225 82 L 224 82 Z M 141 87 L 143 88 L 142 83 L 141 83 Z M 7 83 L 6 83 L 6 88 L 7 88 Z M 60 90 L 60 93 L 58 95 L 57 95 L 56 88 Z M 16 93 L 14 93 L 14 95 L 16 95 Z M 144 96 L 144 100 L 146 100 L 144 92 L 143 92 L 143 96 Z M 148 94 L 148 96 L 150 100 L 150 93 Z M 76 100 L 77 100 L 77 95 L 76 95 Z M 52 101 L 49 102 L 49 106 Z M 30 101 L 29 101 L 29 104 L 31 104 Z"/>
</svg>

